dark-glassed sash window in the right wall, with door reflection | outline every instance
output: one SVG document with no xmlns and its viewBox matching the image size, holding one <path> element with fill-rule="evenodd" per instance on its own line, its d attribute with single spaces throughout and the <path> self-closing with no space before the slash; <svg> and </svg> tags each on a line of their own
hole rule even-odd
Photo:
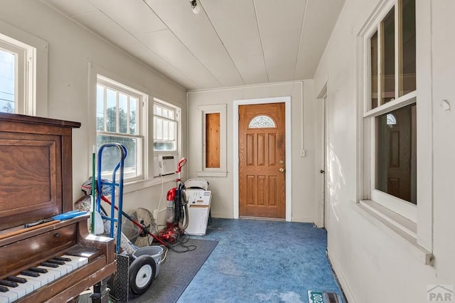
<svg viewBox="0 0 455 303">
<path fill-rule="evenodd" d="M 363 193 L 417 221 L 415 0 L 388 1 L 365 31 Z"/>
</svg>

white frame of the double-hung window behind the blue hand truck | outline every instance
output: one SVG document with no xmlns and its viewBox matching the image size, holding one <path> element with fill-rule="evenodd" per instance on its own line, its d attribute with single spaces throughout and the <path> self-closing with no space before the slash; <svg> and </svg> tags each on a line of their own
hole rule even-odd
<svg viewBox="0 0 455 303">
<path fill-rule="evenodd" d="M 147 112 L 147 101 L 149 96 L 145 92 L 141 92 L 140 90 L 137 90 L 133 87 L 129 87 L 128 85 L 125 85 L 123 83 L 119 83 L 116 80 L 113 80 L 111 78 L 106 77 L 105 75 L 97 74 L 97 83 L 96 85 L 102 85 L 107 89 L 111 90 L 116 90 L 118 93 L 122 93 L 124 95 L 127 95 L 128 97 L 135 97 L 138 99 L 138 106 L 137 106 L 137 134 L 124 134 L 121 132 L 107 132 L 106 130 L 99 131 L 97 129 L 97 122 L 95 120 L 95 129 L 96 129 L 96 137 L 98 135 L 104 135 L 104 136 L 110 136 L 110 137 L 128 137 L 128 138 L 134 138 L 137 139 L 137 151 L 136 151 L 136 171 L 137 174 L 135 176 L 124 176 L 124 183 L 129 184 L 134 181 L 141 181 L 146 179 L 146 136 L 144 136 L 144 129 L 146 129 L 146 123 L 144 120 L 146 120 L 146 115 L 144 115 L 145 112 Z M 97 97 L 95 97 L 95 102 L 97 104 Z M 118 105 L 118 97 L 116 98 L 116 102 Z M 97 105 L 96 105 L 97 106 Z M 105 108 L 104 110 L 106 111 L 106 100 L 104 101 Z M 96 110 L 95 110 L 96 112 Z M 118 115 L 119 115 L 119 108 L 117 108 L 117 122 L 118 122 Z M 97 115 L 95 115 L 95 119 L 97 119 Z M 119 125 L 117 125 L 116 128 L 119 128 Z M 118 130 L 118 129 L 117 129 Z M 97 140 L 96 140 L 97 141 Z M 110 178 L 110 176 L 107 176 Z"/>
</svg>

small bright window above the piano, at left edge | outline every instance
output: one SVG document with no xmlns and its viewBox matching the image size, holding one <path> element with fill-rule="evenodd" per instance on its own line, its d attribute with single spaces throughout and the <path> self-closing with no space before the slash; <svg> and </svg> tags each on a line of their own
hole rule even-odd
<svg viewBox="0 0 455 303">
<path fill-rule="evenodd" d="M 0 112 L 35 115 L 36 48 L 0 34 Z"/>
</svg>

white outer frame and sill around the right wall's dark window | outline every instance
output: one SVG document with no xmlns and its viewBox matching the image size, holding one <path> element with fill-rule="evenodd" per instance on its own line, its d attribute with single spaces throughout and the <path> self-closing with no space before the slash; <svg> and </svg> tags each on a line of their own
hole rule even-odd
<svg viewBox="0 0 455 303">
<path fill-rule="evenodd" d="M 385 16 L 387 11 L 396 4 L 394 0 L 381 0 L 378 6 L 365 20 L 364 25 L 357 34 L 357 104 L 358 104 L 358 161 L 357 161 L 357 197 L 356 208 L 366 220 L 374 220 L 378 228 L 390 234 L 403 245 L 403 248 L 412 252 L 426 265 L 434 265 L 433 233 L 434 233 L 434 201 L 433 201 L 433 107 L 432 107 L 432 16 L 431 1 L 416 1 L 416 90 L 415 97 L 418 98 L 417 108 L 417 219 L 409 220 L 397 215 L 395 209 L 381 206 L 377 201 L 371 200 L 368 196 L 368 185 L 370 178 L 370 155 L 371 144 L 368 141 L 368 133 L 371 124 L 364 123 L 365 94 L 370 91 L 368 75 L 370 75 L 370 62 L 365 60 L 370 52 L 368 41 L 370 29 L 377 26 L 380 15 Z M 366 81 L 366 82 L 365 82 Z M 389 102 L 390 110 L 393 102 Z M 370 112 L 373 113 L 373 112 Z M 366 137 L 366 139 L 365 139 Z M 400 240 L 401 239 L 401 240 Z M 404 241 L 403 241 L 404 240 Z"/>
</svg>

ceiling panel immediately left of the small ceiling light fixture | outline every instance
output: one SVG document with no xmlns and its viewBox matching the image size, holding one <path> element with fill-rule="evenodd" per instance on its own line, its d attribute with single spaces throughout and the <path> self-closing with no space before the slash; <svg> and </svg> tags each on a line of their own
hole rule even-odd
<svg viewBox="0 0 455 303">
<path fill-rule="evenodd" d="M 189 1 L 146 0 L 155 14 L 223 86 L 243 85 L 205 11 L 193 14 Z"/>
</svg>

